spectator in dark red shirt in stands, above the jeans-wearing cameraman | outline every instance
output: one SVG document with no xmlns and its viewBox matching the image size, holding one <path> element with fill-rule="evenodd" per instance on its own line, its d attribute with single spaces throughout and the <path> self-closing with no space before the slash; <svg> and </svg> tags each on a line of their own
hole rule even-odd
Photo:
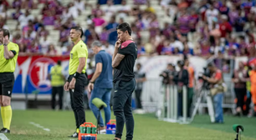
<svg viewBox="0 0 256 140">
<path fill-rule="evenodd" d="M 221 37 L 226 37 L 227 32 L 232 32 L 232 26 L 228 23 L 228 16 L 221 16 L 221 23 L 219 23 L 219 30 L 221 32 Z"/>
</svg>

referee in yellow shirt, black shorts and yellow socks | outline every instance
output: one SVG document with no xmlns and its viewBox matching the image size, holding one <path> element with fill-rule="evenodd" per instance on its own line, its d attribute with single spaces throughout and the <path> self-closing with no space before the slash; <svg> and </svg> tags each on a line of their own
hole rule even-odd
<svg viewBox="0 0 256 140">
<path fill-rule="evenodd" d="M 9 41 L 10 32 L 0 29 L 0 104 L 3 128 L 0 133 L 10 133 L 12 121 L 11 97 L 13 92 L 14 74 L 18 59 L 19 47 Z"/>
</svg>

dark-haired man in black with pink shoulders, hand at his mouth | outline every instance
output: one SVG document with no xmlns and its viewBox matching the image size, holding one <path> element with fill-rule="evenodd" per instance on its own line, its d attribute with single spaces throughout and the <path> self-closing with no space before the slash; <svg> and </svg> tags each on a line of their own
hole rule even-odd
<svg viewBox="0 0 256 140">
<path fill-rule="evenodd" d="M 114 70 L 113 111 L 116 118 L 115 139 L 120 140 L 126 124 L 126 140 L 132 140 L 134 119 L 131 112 L 131 94 L 135 90 L 136 80 L 133 67 L 137 58 L 137 47 L 131 37 L 131 27 L 121 23 L 117 28 L 118 41 L 112 57 Z"/>
</svg>

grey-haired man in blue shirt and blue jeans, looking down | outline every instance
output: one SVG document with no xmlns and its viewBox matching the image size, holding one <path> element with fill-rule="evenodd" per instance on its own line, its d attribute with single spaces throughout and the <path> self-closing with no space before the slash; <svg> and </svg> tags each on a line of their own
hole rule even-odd
<svg viewBox="0 0 256 140">
<path fill-rule="evenodd" d="M 92 103 L 95 97 L 100 98 L 107 107 L 104 108 L 105 123 L 100 113 L 100 133 L 105 133 L 105 124 L 110 122 L 110 95 L 113 87 L 113 68 L 111 66 L 112 59 L 109 53 L 102 50 L 102 44 L 99 41 L 92 43 L 91 47 L 95 53 L 96 70 L 94 76 L 91 78 L 88 90 L 91 92 L 90 109 L 94 112 L 95 117 L 98 118 L 99 109 Z"/>
</svg>

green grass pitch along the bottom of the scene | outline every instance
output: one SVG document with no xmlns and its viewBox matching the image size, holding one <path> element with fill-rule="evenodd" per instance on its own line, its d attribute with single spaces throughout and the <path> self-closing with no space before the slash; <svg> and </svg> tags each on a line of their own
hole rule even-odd
<svg viewBox="0 0 256 140">
<path fill-rule="evenodd" d="M 86 121 L 96 123 L 91 111 L 86 111 Z M 134 115 L 134 140 L 233 140 L 235 133 L 232 125 L 242 124 L 243 140 L 256 140 L 256 119 L 225 116 L 224 124 L 212 124 L 208 116 L 197 116 L 191 124 L 161 122 L 153 114 Z M 112 115 L 112 118 L 115 118 Z M 31 124 L 37 123 L 44 128 Z M 3 126 L 0 121 L 1 127 Z M 9 140 L 71 140 L 68 135 L 74 133 L 74 114 L 71 111 L 28 110 L 13 111 Z M 114 135 L 98 135 L 98 140 L 112 140 Z M 74 139 L 74 138 L 73 138 Z M 123 138 L 125 139 L 125 129 Z"/>
</svg>

